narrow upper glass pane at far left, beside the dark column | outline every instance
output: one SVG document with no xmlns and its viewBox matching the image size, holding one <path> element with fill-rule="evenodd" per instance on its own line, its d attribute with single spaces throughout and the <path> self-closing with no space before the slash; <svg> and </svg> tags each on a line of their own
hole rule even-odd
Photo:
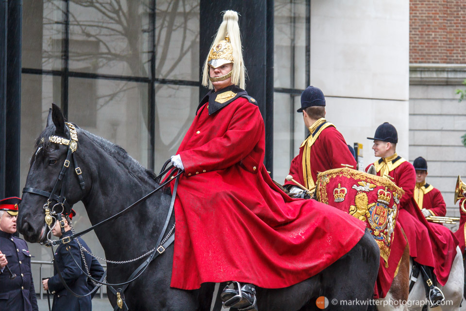
<svg viewBox="0 0 466 311">
<path fill-rule="evenodd" d="M 65 4 L 63 0 L 24 0 L 21 62 L 23 68 L 62 68 Z"/>
</svg>

